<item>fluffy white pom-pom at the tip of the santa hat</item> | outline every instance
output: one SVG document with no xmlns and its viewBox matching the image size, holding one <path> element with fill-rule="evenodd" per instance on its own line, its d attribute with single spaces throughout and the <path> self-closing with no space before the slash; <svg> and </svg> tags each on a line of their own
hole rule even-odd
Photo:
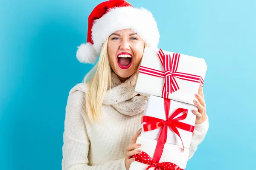
<svg viewBox="0 0 256 170">
<path fill-rule="evenodd" d="M 90 42 L 82 43 L 76 51 L 76 58 L 82 63 L 94 64 L 97 59 L 96 51 Z"/>
</svg>

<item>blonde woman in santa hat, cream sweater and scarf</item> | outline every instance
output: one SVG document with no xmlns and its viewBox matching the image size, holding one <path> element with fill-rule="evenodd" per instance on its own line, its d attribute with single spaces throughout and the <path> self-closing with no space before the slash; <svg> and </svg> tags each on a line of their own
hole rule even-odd
<svg viewBox="0 0 256 170">
<path fill-rule="evenodd" d="M 134 149 L 147 101 L 134 87 L 144 47 L 157 48 L 157 24 L 148 10 L 109 0 L 94 8 L 88 25 L 77 58 L 94 63 L 99 55 L 99 61 L 69 93 L 62 170 L 129 170 L 141 152 Z M 202 88 L 199 94 L 189 159 L 209 126 Z"/>
</svg>

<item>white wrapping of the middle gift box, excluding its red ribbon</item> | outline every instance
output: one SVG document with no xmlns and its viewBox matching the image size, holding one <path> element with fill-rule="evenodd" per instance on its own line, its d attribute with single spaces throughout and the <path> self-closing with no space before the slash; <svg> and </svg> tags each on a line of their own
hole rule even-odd
<svg viewBox="0 0 256 170">
<path fill-rule="evenodd" d="M 179 120 L 178 122 L 183 122 L 183 123 L 195 126 L 196 116 L 195 116 L 194 113 L 192 113 L 192 109 L 195 109 L 196 111 L 198 111 L 198 108 L 195 105 L 190 105 L 190 104 L 187 104 L 187 103 L 177 102 L 175 100 L 171 100 L 169 117 L 172 115 L 172 113 L 175 112 L 175 110 L 177 108 L 184 108 L 184 109 L 188 110 L 186 119 Z M 184 113 L 180 113 L 176 117 L 179 117 L 183 114 Z M 164 98 L 157 97 L 157 96 L 150 96 L 148 98 L 148 102 L 147 102 L 146 107 L 145 107 L 144 116 L 151 116 L 151 117 L 156 117 L 156 118 L 159 118 L 159 119 L 166 120 L 166 113 L 165 113 L 165 109 L 164 109 Z M 147 139 L 158 140 L 160 130 L 162 130 L 162 128 L 158 128 L 158 129 L 155 129 L 155 130 L 145 132 L 144 129 L 143 129 L 144 124 L 145 123 L 143 123 L 141 125 L 142 132 L 141 132 L 140 136 L 144 137 L 144 138 L 147 138 Z M 177 127 L 177 130 L 180 133 L 180 137 L 183 141 L 184 147 L 189 148 L 193 133 L 189 132 L 189 131 L 186 131 L 186 130 L 183 130 L 183 129 L 180 129 L 178 127 Z M 178 145 L 178 146 L 182 147 L 182 142 L 180 140 L 180 137 L 176 133 L 174 133 L 170 127 L 168 127 L 167 139 L 166 139 L 167 143 L 175 144 L 175 145 Z"/>
</svg>

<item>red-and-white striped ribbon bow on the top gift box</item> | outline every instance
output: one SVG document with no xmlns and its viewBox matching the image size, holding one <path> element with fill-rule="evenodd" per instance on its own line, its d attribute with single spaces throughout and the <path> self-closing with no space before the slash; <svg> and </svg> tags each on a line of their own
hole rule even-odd
<svg viewBox="0 0 256 170">
<path fill-rule="evenodd" d="M 140 66 L 139 72 L 143 74 L 155 76 L 155 77 L 165 78 L 163 91 L 162 91 L 163 98 L 169 98 L 169 93 L 172 94 L 173 92 L 180 89 L 175 80 L 175 77 L 179 79 L 191 81 L 191 82 L 198 82 L 201 85 L 204 85 L 204 79 L 201 76 L 177 72 L 177 68 L 180 60 L 180 54 L 173 53 L 173 56 L 171 57 L 170 54 L 165 55 L 162 49 L 160 49 L 158 51 L 157 56 L 160 59 L 161 64 L 163 65 L 164 71 L 159 71 L 152 68 Z"/>
</svg>

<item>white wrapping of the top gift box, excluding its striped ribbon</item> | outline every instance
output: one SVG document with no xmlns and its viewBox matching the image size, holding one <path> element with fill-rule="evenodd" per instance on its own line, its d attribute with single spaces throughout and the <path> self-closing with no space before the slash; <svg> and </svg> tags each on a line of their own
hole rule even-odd
<svg viewBox="0 0 256 170">
<path fill-rule="evenodd" d="M 151 68 L 154 70 L 164 72 L 163 65 L 159 57 L 157 56 L 158 51 L 159 51 L 158 49 L 146 47 L 144 49 L 140 68 L 146 67 L 146 68 Z M 173 60 L 173 54 L 174 54 L 173 52 L 163 51 L 163 53 L 170 54 L 171 60 Z M 207 71 L 207 65 L 204 59 L 180 54 L 176 73 L 179 72 L 184 74 L 192 74 L 204 79 L 206 71 Z M 143 71 L 140 71 L 140 73 L 138 74 L 138 79 L 135 87 L 135 91 L 137 93 L 143 96 L 154 95 L 154 96 L 169 98 L 179 102 L 189 103 L 192 105 L 194 104 L 193 99 L 195 99 L 195 94 L 198 94 L 200 83 L 183 80 L 174 76 L 173 78 L 177 82 L 179 89 L 175 92 L 172 92 L 172 94 L 168 93 L 168 96 L 162 96 L 165 78 L 155 77 L 142 72 Z M 172 75 L 175 75 L 175 74 L 172 74 Z"/>
</svg>

